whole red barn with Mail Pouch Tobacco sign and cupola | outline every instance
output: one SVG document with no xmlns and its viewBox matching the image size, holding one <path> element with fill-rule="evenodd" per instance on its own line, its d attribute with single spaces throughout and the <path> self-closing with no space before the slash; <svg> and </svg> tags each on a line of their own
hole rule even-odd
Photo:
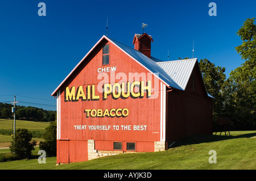
<svg viewBox="0 0 256 181">
<path fill-rule="evenodd" d="M 212 134 L 212 96 L 196 58 L 160 61 L 150 35 L 130 48 L 102 36 L 53 91 L 57 163 L 162 151 L 175 140 Z"/>
</svg>

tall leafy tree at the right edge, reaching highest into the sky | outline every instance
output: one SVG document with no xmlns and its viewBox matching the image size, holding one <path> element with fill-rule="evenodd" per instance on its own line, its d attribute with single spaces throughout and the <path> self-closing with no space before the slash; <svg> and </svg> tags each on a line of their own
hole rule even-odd
<svg viewBox="0 0 256 181">
<path fill-rule="evenodd" d="M 256 25 L 255 18 L 247 19 L 238 30 L 242 44 L 235 49 L 245 60 L 231 71 L 226 81 L 226 111 L 237 129 L 256 128 Z"/>
</svg>

